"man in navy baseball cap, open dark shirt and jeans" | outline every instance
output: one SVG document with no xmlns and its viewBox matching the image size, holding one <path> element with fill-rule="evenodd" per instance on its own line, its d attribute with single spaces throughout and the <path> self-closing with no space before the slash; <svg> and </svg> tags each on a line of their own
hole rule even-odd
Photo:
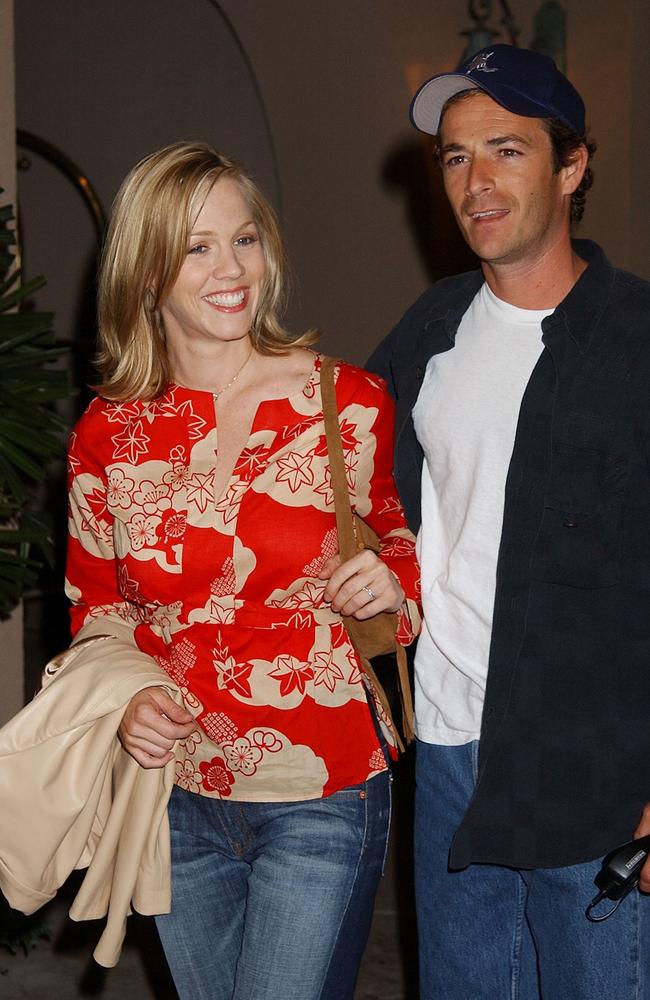
<svg viewBox="0 0 650 1000">
<path fill-rule="evenodd" d="M 585 908 L 650 833 L 650 285 L 571 240 L 595 147 L 552 60 L 494 45 L 411 114 L 481 262 L 369 362 L 420 528 L 421 997 L 648 998 L 650 902 Z"/>
</svg>

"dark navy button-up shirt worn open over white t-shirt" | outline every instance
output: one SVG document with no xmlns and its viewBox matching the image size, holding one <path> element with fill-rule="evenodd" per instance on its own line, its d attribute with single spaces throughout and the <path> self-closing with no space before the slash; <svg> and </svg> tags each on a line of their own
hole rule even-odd
<svg viewBox="0 0 650 1000">
<path fill-rule="evenodd" d="M 650 800 L 650 284 L 588 263 L 542 323 L 505 492 L 479 776 L 452 867 L 558 867 L 630 839 Z M 437 282 L 368 367 L 397 403 L 395 475 L 420 523 L 412 409 L 481 272 Z"/>
</svg>

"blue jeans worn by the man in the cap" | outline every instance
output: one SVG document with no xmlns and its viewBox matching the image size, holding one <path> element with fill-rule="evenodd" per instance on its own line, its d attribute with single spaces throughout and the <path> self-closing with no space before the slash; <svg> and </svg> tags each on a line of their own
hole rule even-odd
<svg viewBox="0 0 650 1000">
<path fill-rule="evenodd" d="M 585 908 L 600 861 L 449 871 L 478 743 L 418 741 L 416 753 L 420 1000 L 650 1000 L 650 900 L 634 891 L 592 924 Z"/>
</svg>

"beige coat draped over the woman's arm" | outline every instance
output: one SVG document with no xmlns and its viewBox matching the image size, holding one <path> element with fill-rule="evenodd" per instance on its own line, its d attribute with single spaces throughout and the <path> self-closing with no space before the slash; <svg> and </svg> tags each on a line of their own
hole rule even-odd
<svg viewBox="0 0 650 1000">
<path fill-rule="evenodd" d="M 103 626 L 103 629 L 101 628 Z M 107 915 L 94 957 L 116 964 L 131 907 L 168 913 L 171 902 L 167 802 L 174 760 L 144 769 L 117 729 L 146 687 L 178 687 L 111 622 L 92 622 L 45 669 L 43 687 L 0 730 L 0 888 L 32 913 L 73 869 L 87 868 L 73 920 Z"/>
</svg>

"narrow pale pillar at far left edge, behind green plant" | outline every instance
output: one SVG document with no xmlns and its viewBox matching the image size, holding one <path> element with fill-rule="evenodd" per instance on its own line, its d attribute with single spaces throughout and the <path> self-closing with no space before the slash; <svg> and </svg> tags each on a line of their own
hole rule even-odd
<svg viewBox="0 0 650 1000">
<path fill-rule="evenodd" d="M 0 196 L 2 204 L 15 203 L 16 117 L 14 102 L 13 0 L 0 0 Z M 0 723 L 23 703 L 22 608 L 0 622 Z"/>
</svg>

